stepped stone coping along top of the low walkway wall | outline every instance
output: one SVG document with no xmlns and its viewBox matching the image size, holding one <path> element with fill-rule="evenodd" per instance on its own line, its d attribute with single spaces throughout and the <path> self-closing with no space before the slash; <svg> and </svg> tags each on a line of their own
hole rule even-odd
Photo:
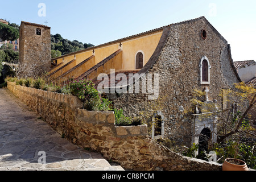
<svg viewBox="0 0 256 182">
<path fill-rule="evenodd" d="M 115 126 L 114 111 L 88 111 L 85 109 L 80 109 L 82 107 L 82 102 L 76 96 L 20 86 L 16 85 L 16 82 L 10 81 L 7 81 L 7 85 L 14 86 L 14 88 L 19 88 L 23 92 L 47 98 L 48 100 L 51 100 L 53 102 L 63 102 L 69 107 L 72 107 L 76 110 L 76 118 L 79 119 L 79 121 L 92 123 L 94 125 L 100 124 L 110 126 L 113 129 L 112 131 L 114 135 L 117 135 L 118 137 L 134 137 L 147 135 L 147 125 Z"/>
</svg>

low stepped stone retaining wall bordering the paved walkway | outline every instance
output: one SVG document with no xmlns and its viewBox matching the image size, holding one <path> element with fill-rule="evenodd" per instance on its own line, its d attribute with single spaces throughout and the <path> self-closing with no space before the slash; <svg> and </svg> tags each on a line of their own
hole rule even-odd
<svg viewBox="0 0 256 182">
<path fill-rule="evenodd" d="M 115 126 L 112 111 L 79 109 L 74 96 L 26 88 L 8 82 L 7 88 L 53 129 L 74 144 L 101 152 L 107 160 L 134 170 L 221 170 L 208 163 L 172 152 L 147 135 L 147 125 Z"/>
</svg>

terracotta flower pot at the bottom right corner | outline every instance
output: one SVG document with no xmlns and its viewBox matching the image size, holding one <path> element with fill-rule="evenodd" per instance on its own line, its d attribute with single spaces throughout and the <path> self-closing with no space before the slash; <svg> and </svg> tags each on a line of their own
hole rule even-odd
<svg viewBox="0 0 256 182">
<path fill-rule="evenodd" d="M 228 158 L 222 165 L 222 171 L 249 171 L 247 165 L 242 160 L 236 159 L 240 164 L 232 164 L 230 161 L 234 161 L 233 158 Z"/>
</svg>

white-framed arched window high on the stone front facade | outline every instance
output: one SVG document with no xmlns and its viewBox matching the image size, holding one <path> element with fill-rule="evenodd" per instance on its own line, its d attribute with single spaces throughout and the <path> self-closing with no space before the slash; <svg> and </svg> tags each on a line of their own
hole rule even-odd
<svg viewBox="0 0 256 182">
<path fill-rule="evenodd" d="M 206 56 L 204 56 L 200 61 L 200 82 L 202 85 L 210 84 L 210 62 Z"/>
</svg>

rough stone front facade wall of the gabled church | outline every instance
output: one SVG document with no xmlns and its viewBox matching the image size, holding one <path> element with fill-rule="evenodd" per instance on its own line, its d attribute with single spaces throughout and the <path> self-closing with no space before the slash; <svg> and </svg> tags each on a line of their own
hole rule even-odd
<svg viewBox="0 0 256 182">
<path fill-rule="evenodd" d="M 201 37 L 201 30 L 207 31 L 206 39 Z M 164 98 L 164 109 L 160 110 L 164 115 L 164 136 L 190 146 L 191 121 L 183 117 L 184 111 L 191 108 L 193 90 L 204 91 L 208 87 L 209 100 L 217 100 L 221 108 L 221 89 L 232 88 L 240 81 L 233 68 L 230 47 L 203 17 L 171 24 L 166 42 L 159 51 L 158 57 L 147 65 L 145 74 L 159 74 L 159 98 Z M 212 67 L 208 85 L 200 82 L 199 64 L 204 56 L 208 57 Z M 146 98 L 145 94 L 122 94 L 113 98 L 113 102 L 115 107 L 125 110 L 127 116 L 136 117 L 144 110 L 143 106 L 148 102 Z"/>
</svg>

